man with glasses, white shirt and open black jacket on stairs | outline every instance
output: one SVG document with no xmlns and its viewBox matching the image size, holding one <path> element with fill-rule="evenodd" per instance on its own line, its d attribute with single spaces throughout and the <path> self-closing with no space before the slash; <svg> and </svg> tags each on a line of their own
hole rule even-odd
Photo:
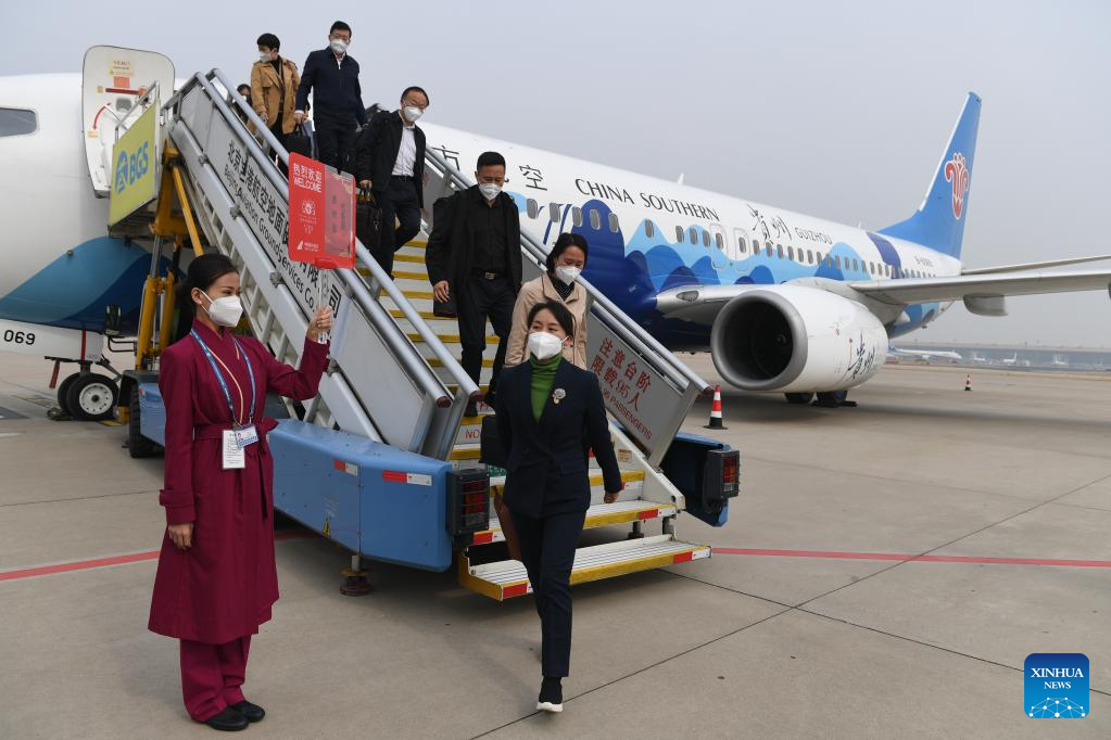
<svg viewBox="0 0 1111 740">
<path fill-rule="evenodd" d="M 352 174 L 360 187 L 374 193 L 374 202 L 382 209 L 382 239 L 370 254 L 391 277 L 393 253 L 420 231 L 420 210 L 424 207 L 424 132 L 417 125 L 417 119 L 426 110 L 428 93 L 421 88 L 406 88 L 398 110 L 376 113 L 354 143 Z"/>
</svg>

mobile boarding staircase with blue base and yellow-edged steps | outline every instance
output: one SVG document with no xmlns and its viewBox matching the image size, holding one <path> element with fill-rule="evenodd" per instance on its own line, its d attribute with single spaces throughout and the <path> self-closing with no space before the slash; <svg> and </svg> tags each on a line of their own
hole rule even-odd
<svg viewBox="0 0 1111 740">
<path fill-rule="evenodd" d="M 288 163 L 288 155 L 253 110 L 228 93 L 233 90 L 219 70 L 198 73 L 163 105 L 167 166 L 180 174 L 181 210 L 196 220 L 206 251 L 229 256 L 240 268 L 251 332 L 278 359 L 296 365 L 317 307 L 320 276 L 287 257 L 289 191 L 273 158 Z M 426 164 L 428 203 L 469 185 L 437 152 L 429 151 Z M 430 224 L 423 226 L 428 233 Z M 492 513 L 491 490 L 503 485 L 504 472 L 478 462 L 481 416 L 464 417 L 482 388 L 457 361 L 454 321 L 432 314 L 424 245 L 418 240 L 398 253 L 394 280 L 362 244 L 357 245 L 357 268 L 336 271 L 323 298 L 337 316 L 332 362 L 319 396 L 301 420 L 283 420 L 270 434 L 274 505 L 350 549 L 353 570 L 359 557 L 432 570 L 454 562 L 468 588 L 499 600 L 520 596 L 530 590 L 524 568 L 500 559 L 504 548 L 496 546 L 504 537 Z M 528 280 L 540 273 L 547 250 L 524 229 L 521 249 Z M 153 264 L 161 252 L 157 242 Z M 709 547 L 675 537 L 674 521 L 688 510 L 709 524 L 724 523 L 728 499 L 738 490 L 738 454 L 705 440 L 672 445 L 691 404 L 708 386 L 597 290 L 584 286 L 593 301 L 591 352 L 607 342 L 608 351 L 619 348 L 647 368 L 658 384 L 653 418 L 661 420 L 648 442 L 611 422 L 625 488 L 615 503 L 604 504 L 602 476 L 591 459 L 585 527 L 630 525 L 632 533 L 620 541 L 581 547 L 571 581 L 709 557 Z M 488 334 L 483 383 L 497 346 L 492 331 Z M 154 420 L 157 393 L 157 385 L 141 386 L 141 413 Z M 480 409 L 490 410 L 484 405 Z M 152 422 L 148 433 L 144 423 L 142 430 L 160 440 L 156 426 Z M 642 526 L 653 519 L 661 521 L 661 534 L 644 536 Z"/>
</svg>

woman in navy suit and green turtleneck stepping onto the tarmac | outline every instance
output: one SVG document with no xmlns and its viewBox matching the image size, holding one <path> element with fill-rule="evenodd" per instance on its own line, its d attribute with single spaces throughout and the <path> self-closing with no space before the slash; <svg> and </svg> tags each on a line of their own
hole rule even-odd
<svg viewBox="0 0 1111 740">
<path fill-rule="evenodd" d="M 598 377 L 563 359 L 563 347 L 574 342 L 571 312 L 562 303 L 538 303 L 527 325 L 529 362 L 506 368 L 499 382 L 498 436 L 508 470 L 503 500 L 543 636 L 537 709 L 558 712 L 571 658 L 571 566 L 590 507 L 588 450 L 602 468 L 607 504 L 623 484 Z"/>
</svg>

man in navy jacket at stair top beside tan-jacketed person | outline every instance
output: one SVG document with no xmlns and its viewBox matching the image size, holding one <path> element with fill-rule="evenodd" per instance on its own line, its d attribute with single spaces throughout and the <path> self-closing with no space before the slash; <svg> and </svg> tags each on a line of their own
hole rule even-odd
<svg viewBox="0 0 1111 740">
<path fill-rule="evenodd" d="M 356 124 L 367 125 L 359 88 L 359 62 L 347 53 L 350 43 L 351 27 L 343 21 L 332 23 L 328 48 L 313 51 L 304 61 L 301 84 L 297 89 L 297 110 L 293 111 L 293 120 L 300 124 L 312 91 L 320 161 L 336 169 L 351 144 Z"/>
</svg>

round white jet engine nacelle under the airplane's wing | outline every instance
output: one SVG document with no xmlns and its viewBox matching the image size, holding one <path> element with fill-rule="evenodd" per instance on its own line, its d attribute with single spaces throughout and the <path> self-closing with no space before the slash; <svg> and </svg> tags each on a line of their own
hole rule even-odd
<svg viewBox="0 0 1111 740">
<path fill-rule="evenodd" d="M 855 301 L 813 287 L 770 285 L 725 304 L 710 348 L 721 376 L 744 391 L 842 391 L 880 371 L 888 333 Z"/>
</svg>

